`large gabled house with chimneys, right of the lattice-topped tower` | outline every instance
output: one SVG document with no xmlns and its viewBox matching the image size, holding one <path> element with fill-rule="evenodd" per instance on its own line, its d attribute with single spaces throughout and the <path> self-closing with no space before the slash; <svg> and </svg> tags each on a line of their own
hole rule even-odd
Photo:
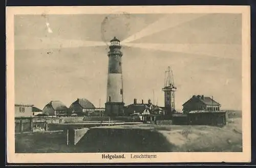
<svg viewBox="0 0 256 168">
<path fill-rule="evenodd" d="M 187 114 L 189 111 L 195 110 L 220 110 L 221 104 L 211 97 L 205 97 L 204 95 L 192 96 L 183 105 L 183 113 Z"/>
</svg>

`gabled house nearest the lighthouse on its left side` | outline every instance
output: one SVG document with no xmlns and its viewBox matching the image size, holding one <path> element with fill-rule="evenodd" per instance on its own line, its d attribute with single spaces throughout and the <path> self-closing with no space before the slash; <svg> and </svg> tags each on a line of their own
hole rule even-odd
<svg viewBox="0 0 256 168">
<path fill-rule="evenodd" d="M 76 114 L 78 116 L 90 116 L 95 111 L 95 106 L 86 98 L 77 98 L 70 107 L 69 115 Z"/>
</svg>

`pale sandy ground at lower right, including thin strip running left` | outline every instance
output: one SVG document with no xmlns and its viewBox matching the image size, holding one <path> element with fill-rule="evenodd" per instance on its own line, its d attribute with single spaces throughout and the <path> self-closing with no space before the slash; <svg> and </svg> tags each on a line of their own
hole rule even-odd
<svg viewBox="0 0 256 168">
<path fill-rule="evenodd" d="M 242 152 L 241 118 L 229 119 L 224 127 L 139 124 L 103 126 L 101 128 L 154 130 L 164 135 L 167 141 L 173 145 L 173 152 Z"/>
</svg>

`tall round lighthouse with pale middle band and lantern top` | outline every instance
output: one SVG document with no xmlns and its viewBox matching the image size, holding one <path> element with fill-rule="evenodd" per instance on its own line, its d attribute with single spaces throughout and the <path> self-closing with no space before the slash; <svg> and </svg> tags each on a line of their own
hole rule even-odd
<svg viewBox="0 0 256 168">
<path fill-rule="evenodd" d="M 123 115 L 123 81 L 122 81 L 122 55 L 120 41 L 114 37 L 109 46 L 109 69 L 106 89 L 106 116 Z"/>
</svg>

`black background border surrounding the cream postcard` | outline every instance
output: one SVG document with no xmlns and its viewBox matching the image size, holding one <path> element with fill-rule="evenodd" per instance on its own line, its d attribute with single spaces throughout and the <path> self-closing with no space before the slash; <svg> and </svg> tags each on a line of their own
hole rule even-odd
<svg viewBox="0 0 256 168">
<path fill-rule="evenodd" d="M 246 6 L 250 6 L 251 8 L 251 102 L 253 102 L 253 100 L 256 100 L 256 94 L 255 93 L 255 89 L 253 88 L 253 84 L 256 82 L 256 80 L 253 80 L 255 78 L 254 75 L 254 71 L 256 70 L 255 66 L 253 66 L 255 64 L 255 51 L 256 51 L 256 46 L 255 46 L 255 37 L 256 37 L 256 30 L 255 30 L 255 24 L 256 24 L 256 2 L 253 0 L 215 0 L 215 1 L 207 1 L 207 0 L 193 0 L 193 1 L 189 1 L 189 0 L 179 0 L 179 1 L 175 1 L 175 0 L 158 0 L 158 1 L 118 1 L 118 0 L 112 0 L 112 1 L 103 1 L 103 0 L 94 0 L 94 1 L 81 1 L 81 0 L 77 0 L 77 1 L 69 1 L 69 0 L 63 0 L 63 1 L 47 1 L 47 0 L 6 0 L 6 6 L 138 6 L 138 5 L 143 5 L 143 6 L 147 6 L 147 5 L 229 5 L 229 6 L 235 6 L 235 5 L 246 5 Z M 5 15 L 4 15 L 5 16 Z M 1 57 L 1 59 L 4 59 L 4 61 L 1 61 L 2 63 L 5 63 L 5 65 L 3 67 L 5 67 L 5 74 L 4 74 L 4 78 L 6 81 L 6 30 L 4 28 L 4 37 L 5 37 L 5 48 L 4 48 L 4 55 L 5 57 Z M 254 37 L 254 38 L 253 38 Z M 254 55 L 254 57 L 253 57 Z M 5 106 L 5 113 L 2 113 L 2 115 L 4 114 L 4 117 L 2 117 L 2 119 L 5 119 L 4 122 L 2 122 L 4 124 L 5 128 L 5 141 L 6 141 L 6 82 L 5 82 L 5 98 L 4 101 L 2 101 L 2 103 L 4 102 L 4 106 Z M 253 134 L 253 132 L 256 131 L 256 113 L 253 113 L 253 111 L 256 110 L 255 104 L 251 103 L 251 163 L 118 163 L 118 165 L 122 165 L 122 166 L 141 166 L 141 165 L 145 165 L 145 166 L 187 166 L 187 165 L 193 165 L 193 166 L 200 166 L 203 164 L 203 166 L 207 166 L 207 165 L 211 165 L 211 166 L 226 166 L 226 165 L 254 165 L 256 162 L 256 133 Z M 254 123 L 255 122 L 255 123 Z M 2 138 L 3 139 L 3 138 Z M 2 143 L 3 144 L 3 143 Z M 19 164 L 14 164 L 14 163 L 8 163 L 7 162 L 7 154 L 6 154 L 6 143 L 5 143 L 5 165 L 9 165 L 9 166 L 15 166 L 15 165 L 21 165 L 21 166 L 29 166 L 29 165 L 42 165 L 42 163 L 31 163 L 31 164 L 25 164 L 25 163 L 19 163 Z M 2 148 L 3 149 L 3 148 Z M 82 163 L 76 163 L 76 164 L 64 164 L 64 163 L 60 163 L 60 164 L 51 164 L 51 163 L 44 163 L 44 165 L 46 166 L 111 166 L 111 165 L 117 165 L 116 163 L 87 163 L 87 164 L 82 164 Z"/>
</svg>

